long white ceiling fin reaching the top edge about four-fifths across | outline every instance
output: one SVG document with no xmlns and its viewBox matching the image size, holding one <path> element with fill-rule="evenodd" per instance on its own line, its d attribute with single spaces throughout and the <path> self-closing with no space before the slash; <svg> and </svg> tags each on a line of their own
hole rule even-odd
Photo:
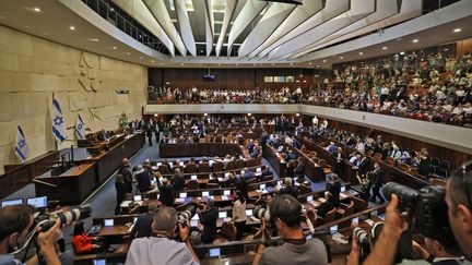
<svg viewBox="0 0 472 265">
<path fill-rule="evenodd" d="M 269 53 L 269 59 L 286 58 L 376 11 L 376 0 L 351 0 L 351 9 L 321 25 L 279 46 Z"/>
</svg>

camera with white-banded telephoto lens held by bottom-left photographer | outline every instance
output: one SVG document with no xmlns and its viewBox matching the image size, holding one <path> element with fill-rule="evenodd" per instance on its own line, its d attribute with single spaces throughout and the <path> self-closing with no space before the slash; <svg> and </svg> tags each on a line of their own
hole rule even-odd
<svg viewBox="0 0 472 265">
<path fill-rule="evenodd" d="M 49 230 L 59 219 L 61 226 L 69 226 L 70 224 L 85 219 L 92 214 L 92 207 L 90 205 L 84 205 L 68 212 L 59 212 L 54 214 L 40 214 L 35 218 L 35 222 L 40 226 L 42 231 Z"/>
</svg>

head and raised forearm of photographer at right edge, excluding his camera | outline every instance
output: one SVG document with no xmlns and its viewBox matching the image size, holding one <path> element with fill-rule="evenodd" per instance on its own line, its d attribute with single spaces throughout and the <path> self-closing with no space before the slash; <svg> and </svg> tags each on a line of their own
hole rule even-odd
<svg viewBox="0 0 472 265">
<path fill-rule="evenodd" d="M 450 228 L 458 241 L 465 260 L 460 264 L 472 264 L 472 161 L 464 164 L 448 179 L 446 185 L 446 204 Z M 391 195 L 391 202 L 386 209 L 386 222 L 373 252 L 364 264 L 393 264 L 397 242 L 401 233 L 408 229 L 409 224 L 398 209 L 399 197 Z M 358 245 L 353 240 L 352 251 L 347 264 L 358 261 Z M 428 264 L 425 261 L 406 261 L 401 264 Z"/>
</svg>

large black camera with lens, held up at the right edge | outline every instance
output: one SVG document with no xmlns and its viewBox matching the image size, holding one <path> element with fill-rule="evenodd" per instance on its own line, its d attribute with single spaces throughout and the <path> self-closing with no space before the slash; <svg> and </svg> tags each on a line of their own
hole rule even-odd
<svg viewBox="0 0 472 265">
<path fill-rule="evenodd" d="M 409 213 L 410 225 L 413 229 L 427 238 L 442 242 L 455 238 L 449 226 L 444 188 L 426 185 L 416 191 L 396 182 L 389 182 L 384 186 L 384 195 L 390 198 L 391 194 L 399 197 L 399 209 Z"/>
</svg>

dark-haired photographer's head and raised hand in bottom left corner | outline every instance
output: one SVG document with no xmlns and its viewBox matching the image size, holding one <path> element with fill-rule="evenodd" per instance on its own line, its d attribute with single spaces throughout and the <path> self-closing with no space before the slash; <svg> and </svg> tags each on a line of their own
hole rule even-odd
<svg viewBox="0 0 472 265">
<path fill-rule="evenodd" d="M 21 246 L 27 240 L 31 229 L 34 226 L 34 214 L 36 209 L 26 204 L 7 206 L 0 208 L 0 264 L 1 265 L 17 265 L 23 264 L 15 260 L 13 255 L 8 254 L 13 248 Z M 56 254 L 55 243 L 59 237 L 60 221 L 45 232 L 39 232 L 37 242 L 39 252 L 43 255 L 46 264 L 60 264 Z M 36 228 L 38 230 L 39 228 Z M 38 264 L 37 255 L 30 258 L 26 264 Z"/>
</svg>

